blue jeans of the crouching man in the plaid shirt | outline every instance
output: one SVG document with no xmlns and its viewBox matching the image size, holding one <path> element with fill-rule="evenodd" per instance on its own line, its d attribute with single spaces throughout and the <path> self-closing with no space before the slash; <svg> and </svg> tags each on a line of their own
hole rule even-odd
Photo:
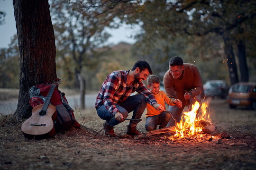
<svg viewBox="0 0 256 170">
<path fill-rule="evenodd" d="M 132 119 L 140 119 L 144 110 L 146 109 L 146 99 L 142 94 L 129 96 L 123 103 L 120 105 L 115 104 L 120 113 L 122 113 L 123 117 L 126 119 L 128 117 L 128 113 L 133 111 Z M 105 105 L 102 104 L 98 108 L 96 108 L 98 116 L 107 120 L 110 126 L 116 126 L 123 121 L 118 121 L 114 118 L 114 115 L 110 113 L 109 110 L 106 109 Z M 130 120 L 129 126 L 136 127 L 139 121 Z"/>
</svg>

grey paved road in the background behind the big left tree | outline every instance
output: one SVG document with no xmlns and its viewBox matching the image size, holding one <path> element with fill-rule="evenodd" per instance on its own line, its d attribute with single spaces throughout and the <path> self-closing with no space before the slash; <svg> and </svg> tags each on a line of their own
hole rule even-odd
<svg viewBox="0 0 256 170">
<path fill-rule="evenodd" d="M 94 108 L 97 94 L 85 95 L 85 107 L 86 109 Z M 69 105 L 73 109 L 80 109 L 79 95 L 66 96 Z M 0 115 L 14 113 L 18 104 L 18 99 L 9 101 L 0 101 Z"/>
</svg>

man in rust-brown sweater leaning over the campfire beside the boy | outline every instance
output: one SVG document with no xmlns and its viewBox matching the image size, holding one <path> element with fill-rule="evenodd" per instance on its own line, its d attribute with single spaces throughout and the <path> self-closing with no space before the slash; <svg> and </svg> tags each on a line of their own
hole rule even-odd
<svg viewBox="0 0 256 170">
<path fill-rule="evenodd" d="M 200 101 L 200 94 L 203 90 L 202 80 L 198 68 L 193 64 L 184 63 L 183 59 L 175 56 L 169 61 L 169 70 L 164 76 L 165 92 L 168 96 L 180 99 L 183 103 L 181 108 L 169 106 L 169 111 L 173 114 L 177 122 L 181 120 L 181 114 L 186 105 Z M 189 106 L 190 108 L 190 106 Z M 175 126 L 175 120 L 171 119 L 167 124 Z"/>
</svg>

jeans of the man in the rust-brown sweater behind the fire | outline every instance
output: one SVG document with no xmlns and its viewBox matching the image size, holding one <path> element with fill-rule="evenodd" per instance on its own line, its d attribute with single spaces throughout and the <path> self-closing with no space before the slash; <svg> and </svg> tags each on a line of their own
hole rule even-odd
<svg viewBox="0 0 256 170">
<path fill-rule="evenodd" d="M 194 104 L 196 101 L 200 102 L 201 96 L 197 95 L 196 97 L 190 99 L 190 103 Z M 182 111 L 186 105 L 183 105 L 182 108 L 178 108 L 176 106 L 169 106 L 169 111 L 171 111 L 174 119 L 179 123 L 181 121 L 182 117 Z M 186 106 L 187 107 L 187 106 Z M 191 109 L 191 105 L 189 106 Z M 170 119 L 170 121 L 167 124 L 167 127 L 175 126 L 175 120 L 173 118 Z"/>
</svg>

